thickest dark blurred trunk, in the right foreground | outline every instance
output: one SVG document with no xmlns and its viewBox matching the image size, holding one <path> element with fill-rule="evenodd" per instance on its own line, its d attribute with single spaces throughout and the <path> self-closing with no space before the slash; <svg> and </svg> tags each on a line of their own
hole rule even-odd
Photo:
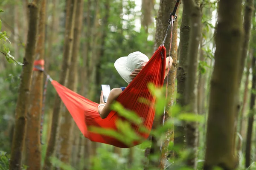
<svg viewBox="0 0 256 170">
<path fill-rule="evenodd" d="M 215 65 L 212 73 L 207 121 L 206 155 L 204 169 L 219 166 L 234 170 L 237 158 L 234 152 L 234 121 L 236 92 L 239 90 L 239 71 L 243 29 L 242 0 L 220 0 L 218 26 L 215 35 Z M 228 8 L 232 11 L 227 10 Z"/>
</svg>

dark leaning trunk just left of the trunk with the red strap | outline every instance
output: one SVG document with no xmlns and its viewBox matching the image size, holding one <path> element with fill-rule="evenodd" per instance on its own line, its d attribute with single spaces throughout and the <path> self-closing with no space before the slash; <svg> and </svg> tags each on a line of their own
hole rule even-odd
<svg viewBox="0 0 256 170">
<path fill-rule="evenodd" d="M 30 84 L 32 79 L 32 69 L 35 54 L 35 44 L 37 36 L 38 23 L 38 5 L 36 3 L 29 4 L 29 34 L 27 37 L 27 46 L 25 49 L 25 57 L 23 59 L 23 69 L 20 75 L 20 87 L 16 105 L 16 121 L 15 130 L 12 140 L 12 151 L 10 159 L 10 170 L 20 170 L 21 155 L 23 150 L 26 115 L 29 102 Z"/>
</svg>

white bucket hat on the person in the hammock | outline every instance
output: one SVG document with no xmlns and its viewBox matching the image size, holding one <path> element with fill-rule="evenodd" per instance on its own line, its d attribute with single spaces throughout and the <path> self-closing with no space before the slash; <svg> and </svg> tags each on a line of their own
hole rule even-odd
<svg viewBox="0 0 256 170">
<path fill-rule="evenodd" d="M 120 57 L 114 63 L 114 66 L 120 76 L 128 84 L 132 81 L 130 74 L 135 69 L 140 69 L 144 62 L 148 62 L 148 57 L 140 51 L 133 52 L 127 57 Z"/>
</svg>

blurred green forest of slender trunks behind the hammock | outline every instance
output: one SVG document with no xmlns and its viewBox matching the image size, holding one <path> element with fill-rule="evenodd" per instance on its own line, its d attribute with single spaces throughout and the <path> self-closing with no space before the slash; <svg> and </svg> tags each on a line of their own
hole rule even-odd
<svg viewBox="0 0 256 170">
<path fill-rule="evenodd" d="M 34 97 L 43 95 L 44 74 L 34 71 L 29 88 L 31 96 L 19 99 L 22 93 L 20 87 L 23 87 L 20 76 L 26 72 L 21 62 L 23 57 L 28 59 L 29 49 L 33 51 L 33 45 L 27 45 L 29 37 L 34 34 L 29 28 L 38 28 L 38 31 L 34 34 L 35 54 L 28 61 L 44 59 L 44 68 L 52 79 L 99 102 L 101 84 L 109 84 L 111 88 L 127 86 L 113 66 L 116 59 L 134 51 L 152 56 L 163 41 L 169 14 L 176 1 L 1 0 L 0 31 L 6 33 L 1 32 L 0 165 L 9 168 L 9 163 L 4 160 L 9 159 L 12 153 L 15 130 L 18 132 L 18 117 L 25 115 L 25 142 L 19 161 L 28 167 L 23 168 L 49 169 L 54 166 L 67 170 L 146 170 L 160 167 L 185 170 L 189 167 L 207 169 L 208 166 L 217 165 L 228 170 L 234 167 L 241 170 L 256 168 L 256 135 L 253 133 L 256 128 L 255 123 L 253 125 L 256 90 L 256 77 L 253 74 L 256 64 L 255 4 L 253 0 L 229 1 L 184 0 L 180 3 L 170 53 L 174 64 L 169 76 L 167 108 L 171 108 L 171 113 L 166 116 L 167 123 L 162 127 L 160 122 L 155 121 L 156 131 L 147 142 L 130 149 L 120 149 L 84 139 L 69 113 L 56 99 L 55 89 L 51 85 L 47 86 L 40 137 L 42 106 L 32 106 L 35 105 Z M 228 13 L 229 10 L 224 11 L 223 8 L 231 2 L 233 4 L 229 7 L 233 7 L 233 13 Z M 38 25 L 35 22 L 34 27 L 29 25 L 29 20 L 37 20 L 30 15 L 33 5 L 38 6 L 34 14 L 39 16 L 36 21 Z M 235 13 L 241 15 L 236 16 Z M 218 17 L 226 22 L 224 34 L 227 37 L 223 36 L 223 39 L 218 37 L 218 29 L 222 28 L 217 29 Z M 198 29 L 195 28 L 196 24 Z M 239 28 L 238 34 L 232 32 L 237 31 L 235 28 Z M 169 43 L 170 40 L 167 40 L 166 48 Z M 167 53 L 169 55 L 169 51 Z M 241 63 L 241 68 L 230 66 L 237 63 Z M 216 81 L 218 71 L 222 76 Z M 237 87 L 233 86 L 236 82 L 239 84 Z M 218 95 L 214 96 L 214 92 Z M 233 98 L 237 100 L 229 102 Z M 28 105 L 26 114 L 17 114 L 17 105 L 22 103 L 19 103 L 21 100 Z M 223 103 L 221 111 L 214 110 L 214 103 L 218 100 Z M 239 111 L 234 108 L 239 108 Z M 217 133 L 209 125 L 216 125 Z M 156 132 L 160 134 L 157 136 Z M 166 141 L 168 144 L 163 151 L 166 154 L 160 153 L 160 143 Z M 229 145 L 231 149 L 227 147 Z M 207 151 L 206 146 L 218 151 Z M 33 150 L 38 153 L 31 154 Z M 232 153 L 237 159 L 225 153 Z"/>
</svg>

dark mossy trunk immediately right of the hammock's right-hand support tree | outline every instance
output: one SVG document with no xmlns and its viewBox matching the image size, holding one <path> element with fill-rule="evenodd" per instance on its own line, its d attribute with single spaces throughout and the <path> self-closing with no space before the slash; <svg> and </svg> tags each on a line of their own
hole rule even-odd
<svg viewBox="0 0 256 170">
<path fill-rule="evenodd" d="M 182 20 L 180 26 L 180 55 L 177 68 L 177 105 L 183 107 L 185 105 L 185 81 L 186 81 L 186 61 L 188 57 L 189 49 L 189 9 L 188 6 L 183 5 Z M 185 125 L 175 126 L 174 145 L 183 150 L 185 147 Z M 175 153 L 175 157 L 179 157 L 178 153 Z"/>
</svg>

